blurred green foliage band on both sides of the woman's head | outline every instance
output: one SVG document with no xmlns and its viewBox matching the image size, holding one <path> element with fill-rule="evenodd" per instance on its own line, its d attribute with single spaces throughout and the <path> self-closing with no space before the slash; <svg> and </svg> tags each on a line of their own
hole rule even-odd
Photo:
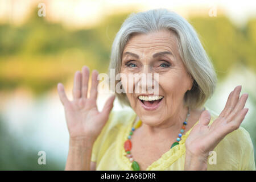
<svg viewBox="0 0 256 182">
<path fill-rule="evenodd" d="M 127 15 L 107 16 L 96 27 L 75 31 L 48 22 L 37 11 L 22 26 L 0 25 L 1 89 L 22 85 L 40 94 L 72 77 L 82 65 L 106 72 L 115 34 Z M 193 17 L 189 22 L 199 33 L 218 77 L 225 77 L 236 63 L 256 70 L 255 19 L 243 28 L 221 15 Z"/>
</svg>

